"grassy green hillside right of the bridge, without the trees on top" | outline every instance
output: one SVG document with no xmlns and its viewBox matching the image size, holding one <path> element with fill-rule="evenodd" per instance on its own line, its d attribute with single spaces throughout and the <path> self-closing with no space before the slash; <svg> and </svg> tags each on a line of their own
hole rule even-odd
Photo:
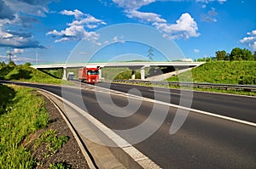
<svg viewBox="0 0 256 169">
<path fill-rule="evenodd" d="M 193 82 L 224 84 L 256 84 L 256 61 L 214 61 L 191 70 Z M 189 72 L 167 79 L 169 82 L 190 82 Z"/>
</svg>

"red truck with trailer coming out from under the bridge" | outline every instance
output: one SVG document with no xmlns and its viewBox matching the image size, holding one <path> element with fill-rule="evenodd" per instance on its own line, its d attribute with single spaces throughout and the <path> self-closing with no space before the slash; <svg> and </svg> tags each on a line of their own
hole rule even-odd
<svg viewBox="0 0 256 169">
<path fill-rule="evenodd" d="M 99 67 L 79 68 L 79 81 L 87 83 L 99 82 Z"/>
</svg>

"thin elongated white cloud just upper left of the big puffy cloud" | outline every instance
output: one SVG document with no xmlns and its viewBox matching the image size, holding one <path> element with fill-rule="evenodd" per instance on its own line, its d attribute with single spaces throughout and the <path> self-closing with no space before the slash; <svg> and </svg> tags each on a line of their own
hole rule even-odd
<svg viewBox="0 0 256 169">
<path fill-rule="evenodd" d="M 137 10 L 126 11 L 126 13 L 129 18 L 137 18 L 145 22 L 166 22 L 166 20 L 160 18 L 160 14 L 143 13 Z"/>
</svg>

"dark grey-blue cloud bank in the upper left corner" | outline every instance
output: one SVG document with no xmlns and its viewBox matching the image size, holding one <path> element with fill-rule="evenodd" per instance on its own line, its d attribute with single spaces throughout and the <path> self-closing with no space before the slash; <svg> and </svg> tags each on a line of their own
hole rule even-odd
<svg viewBox="0 0 256 169">
<path fill-rule="evenodd" d="M 38 22 L 35 16 L 45 16 L 51 0 L 0 0 L 0 47 L 44 48 L 31 33 L 20 29 L 31 28 Z M 22 31 L 23 30 L 23 31 Z"/>
</svg>

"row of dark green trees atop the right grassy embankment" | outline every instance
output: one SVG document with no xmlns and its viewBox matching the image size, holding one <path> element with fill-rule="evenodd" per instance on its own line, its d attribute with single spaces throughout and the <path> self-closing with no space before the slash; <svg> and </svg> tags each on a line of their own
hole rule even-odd
<svg viewBox="0 0 256 169">
<path fill-rule="evenodd" d="M 227 53 L 226 51 L 217 51 L 215 52 L 215 57 L 207 57 L 207 58 L 202 58 L 202 59 L 197 59 L 197 61 L 213 61 L 213 60 L 250 60 L 256 61 L 256 51 L 254 54 L 247 48 L 233 48 L 231 53 Z"/>
</svg>

